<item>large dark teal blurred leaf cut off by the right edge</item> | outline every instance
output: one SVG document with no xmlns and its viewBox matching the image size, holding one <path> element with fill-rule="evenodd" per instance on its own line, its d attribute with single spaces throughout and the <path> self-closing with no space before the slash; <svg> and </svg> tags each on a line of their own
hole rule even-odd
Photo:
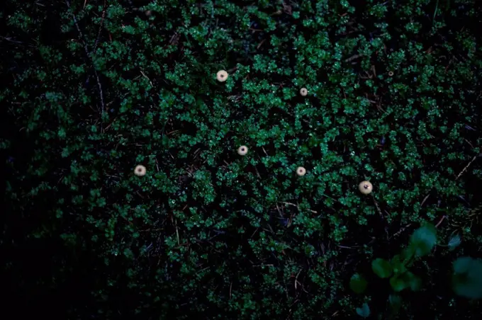
<svg viewBox="0 0 482 320">
<path fill-rule="evenodd" d="M 482 298 L 482 260 L 461 257 L 454 261 L 452 288 L 457 295 L 470 299 Z"/>
</svg>

